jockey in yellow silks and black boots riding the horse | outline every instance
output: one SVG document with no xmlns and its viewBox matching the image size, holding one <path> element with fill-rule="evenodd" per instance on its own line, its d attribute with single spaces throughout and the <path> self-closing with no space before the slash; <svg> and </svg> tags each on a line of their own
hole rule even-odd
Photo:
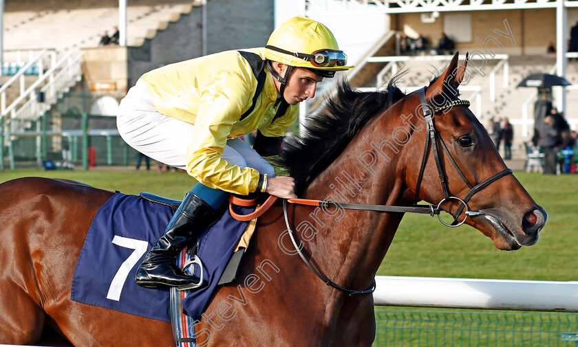
<svg viewBox="0 0 578 347">
<path fill-rule="evenodd" d="M 299 102 L 313 98 L 323 78 L 352 68 L 346 65 L 332 32 L 297 16 L 277 27 L 264 48 L 212 54 L 141 76 L 120 102 L 122 139 L 148 157 L 186 169 L 199 183 L 138 267 L 137 284 L 198 282 L 175 259 L 220 216 L 229 194 L 296 197 L 292 177 L 275 177 L 259 154 L 280 152 Z M 250 148 L 239 136 L 256 130 Z"/>
</svg>

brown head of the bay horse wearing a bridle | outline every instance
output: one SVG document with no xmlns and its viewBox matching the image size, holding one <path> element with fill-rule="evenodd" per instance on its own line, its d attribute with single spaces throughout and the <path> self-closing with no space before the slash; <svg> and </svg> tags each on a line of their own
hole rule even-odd
<svg viewBox="0 0 578 347">
<path fill-rule="evenodd" d="M 420 120 L 411 147 L 423 151 L 423 159 L 408 161 L 407 187 L 415 201 L 438 205 L 489 236 L 498 249 L 533 245 L 548 216 L 511 175 L 469 102 L 459 100 L 466 68 L 467 56 L 458 67 L 456 53 L 428 87 L 396 105 L 415 110 Z"/>
</svg>

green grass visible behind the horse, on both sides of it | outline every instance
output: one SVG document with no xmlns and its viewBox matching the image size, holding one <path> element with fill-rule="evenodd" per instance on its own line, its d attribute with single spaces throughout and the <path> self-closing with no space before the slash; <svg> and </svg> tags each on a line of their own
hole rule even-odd
<svg viewBox="0 0 578 347">
<path fill-rule="evenodd" d="M 495 249 L 468 226 L 449 228 L 437 218 L 406 214 L 378 275 L 517 280 L 577 280 L 578 175 L 557 177 L 515 172 L 549 214 L 539 242 L 517 251 Z M 97 188 L 138 194 L 142 190 L 182 199 L 195 183 L 185 172 L 89 170 L 0 172 L 0 181 L 42 176 L 74 179 Z"/>
</svg>

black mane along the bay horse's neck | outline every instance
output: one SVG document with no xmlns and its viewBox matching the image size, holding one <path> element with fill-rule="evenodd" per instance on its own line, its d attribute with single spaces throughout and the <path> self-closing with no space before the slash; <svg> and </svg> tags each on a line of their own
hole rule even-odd
<svg viewBox="0 0 578 347">
<path fill-rule="evenodd" d="M 301 135 L 283 146 L 281 165 L 295 178 L 297 194 L 341 154 L 367 122 L 405 96 L 395 87 L 398 77 L 392 78 L 384 91 L 372 92 L 357 91 L 341 81 L 325 109 L 308 120 Z"/>
</svg>

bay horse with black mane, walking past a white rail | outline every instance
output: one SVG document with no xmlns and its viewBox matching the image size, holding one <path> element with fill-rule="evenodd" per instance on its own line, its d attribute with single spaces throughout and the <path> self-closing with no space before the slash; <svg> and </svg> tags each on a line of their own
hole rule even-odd
<svg viewBox="0 0 578 347">
<path fill-rule="evenodd" d="M 467 58 L 458 66 L 456 54 L 407 95 L 394 82 L 375 92 L 341 82 L 283 150 L 299 197 L 403 208 L 426 201 L 431 214 L 451 212 L 498 249 L 536 243 L 546 212 L 458 99 L 466 72 Z M 74 346 L 175 346 L 170 323 L 70 300 L 89 225 L 113 194 L 32 177 L 0 185 L 0 343 L 34 343 L 48 324 Z M 260 217 L 237 279 L 217 289 L 195 325 L 199 346 L 372 345 L 372 282 L 403 213 L 285 205 Z"/>
</svg>

